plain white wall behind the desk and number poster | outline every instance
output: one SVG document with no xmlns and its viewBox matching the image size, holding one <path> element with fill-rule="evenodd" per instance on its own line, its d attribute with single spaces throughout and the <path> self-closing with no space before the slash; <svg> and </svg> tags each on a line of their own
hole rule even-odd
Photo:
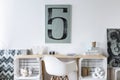
<svg viewBox="0 0 120 80">
<path fill-rule="evenodd" d="M 4 36 L 0 39 L 6 44 L 4 48 L 39 45 L 62 54 L 83 53 L 92 41 L 97 41 L 107 54 L 106 29 L 119 28 L 119 3 L 120 0 L 0 0 L 0 33 Z M 71 43 L 45 43 L 45 4 L 72 5 Z"/>
</svg>

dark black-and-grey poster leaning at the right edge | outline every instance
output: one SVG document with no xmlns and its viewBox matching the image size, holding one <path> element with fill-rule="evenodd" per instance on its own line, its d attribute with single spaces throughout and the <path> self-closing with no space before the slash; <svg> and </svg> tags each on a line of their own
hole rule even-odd
<svg viewBox="0 0 120 80">
<path fill-rule="evenodd" d="M 107 29 L 108 64 L 120 67 L 120 29 Z"/>
</svg>

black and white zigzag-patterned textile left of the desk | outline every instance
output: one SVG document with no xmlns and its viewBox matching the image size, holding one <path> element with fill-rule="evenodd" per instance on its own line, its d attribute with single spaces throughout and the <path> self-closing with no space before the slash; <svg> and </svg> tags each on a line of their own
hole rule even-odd
<svg viewBox="0 0 120 80">
<path fill-rule="evenodd" d="M 14 80 L 14 56 L 23 50 L 0 50 L 0 80 Z"/>
</svg>

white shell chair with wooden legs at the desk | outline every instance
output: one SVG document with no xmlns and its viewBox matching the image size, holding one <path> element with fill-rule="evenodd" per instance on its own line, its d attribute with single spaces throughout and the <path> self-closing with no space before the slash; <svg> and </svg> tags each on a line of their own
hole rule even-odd
<svg viewBox="0 0 120 80">
<path fill-rule="evenodd" d="M 50 80 L 69 80 L 68 74 L 77 71 L 76 61 L 63 62 L 52 55 L 45 55 L 42 59 L 46 72 L 51 75 Z"/>
</svg>

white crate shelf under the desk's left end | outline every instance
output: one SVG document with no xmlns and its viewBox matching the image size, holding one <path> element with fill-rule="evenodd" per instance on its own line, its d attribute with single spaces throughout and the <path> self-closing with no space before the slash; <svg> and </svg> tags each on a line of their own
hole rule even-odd
<svg viewBox="0 0 120 80">
<path fill-rule="evenodd" d="M 42 80 L 40 58 L 15 58 L 14 80 Z"/>
</svg>

